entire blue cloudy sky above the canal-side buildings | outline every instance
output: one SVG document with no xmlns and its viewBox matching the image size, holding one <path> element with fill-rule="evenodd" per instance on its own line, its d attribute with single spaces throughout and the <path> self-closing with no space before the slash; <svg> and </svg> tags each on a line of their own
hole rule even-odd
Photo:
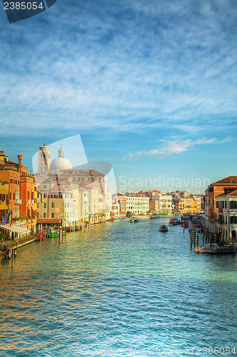
<svg viewBox="0 0 237 357">
<path fill-rule="evenodd" d="M 9 159 L 31 171 L 39 146 L 80 134 L 121 192 L 237 175 L 235 0 L 57 0 L 14 24 L 0 6 Z"/>
</svg>

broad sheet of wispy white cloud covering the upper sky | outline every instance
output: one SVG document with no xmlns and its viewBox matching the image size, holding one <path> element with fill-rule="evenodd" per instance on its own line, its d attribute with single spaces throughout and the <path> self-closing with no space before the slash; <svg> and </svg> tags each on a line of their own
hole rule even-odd
<svg viewBox="0 0 237 357">
<path fill-rule="evenodd" d="M 236 19 L 231 0 L 90 0 L 57 1 L 4 24 L 3 123 L 23 136 L 65 127 L 199 133 L 210 120 L 228 131 L 225 120 L 237 115 Z"/>
</svg>

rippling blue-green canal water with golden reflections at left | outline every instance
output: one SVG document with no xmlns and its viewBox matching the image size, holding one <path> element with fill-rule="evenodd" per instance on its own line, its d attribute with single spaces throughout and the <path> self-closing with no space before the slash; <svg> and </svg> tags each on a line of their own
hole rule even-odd
<svg viewBox="0 0 237 357">
<path fill-rule="evenodd" d="M 237 256 L 194 254 L 168 222 L 107 222 L 2 261 L 0 356 L 237 355 Z"/>
</svg>

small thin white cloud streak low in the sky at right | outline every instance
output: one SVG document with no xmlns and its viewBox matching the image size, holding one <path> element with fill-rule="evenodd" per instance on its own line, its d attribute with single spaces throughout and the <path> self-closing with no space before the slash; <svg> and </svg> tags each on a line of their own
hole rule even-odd
<svg viewBox="0 0 237 357">
<path fill-rule="evenodd" d="M 206 144 L 221 144 L 232 141 L 231 137 L 227 137 L 223 140 L 217 140 L 216 138 L 206 139 L 181 139 L 181 138 L 171 138 L 161 140 L 162 144 L 157 149 L 149 149 L 149 151 L 137 151 L 136 153 L 129 153 L 122 158 L 122 160 L 130 160 L 139 157 L 139 156 L 171 156 L 179 155 L 185 151 L 193 150 L 196 146 L 206 145 Z"/>
</svg>

